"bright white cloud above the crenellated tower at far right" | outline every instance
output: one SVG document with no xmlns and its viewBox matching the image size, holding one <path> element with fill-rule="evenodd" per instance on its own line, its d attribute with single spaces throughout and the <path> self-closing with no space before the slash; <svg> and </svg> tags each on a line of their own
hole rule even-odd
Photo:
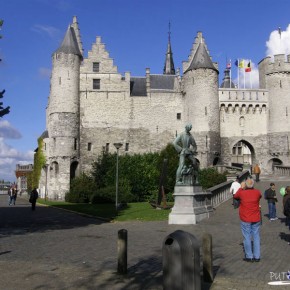
<svg viewBox="0 0 290 290">
<path fill-rule="evenodd" d="M 271 32 L 269 40 L 266 42 L 267 56 L 276 54 L 290 54 L 290 24 L 285 31 L 274 30 Z"/>
</svg>

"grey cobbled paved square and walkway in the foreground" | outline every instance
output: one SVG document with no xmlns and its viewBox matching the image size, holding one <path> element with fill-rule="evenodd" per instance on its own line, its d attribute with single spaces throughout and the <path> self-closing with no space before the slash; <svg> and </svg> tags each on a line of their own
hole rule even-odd
<svg viewBox="0 0 290 290">
<path fill-rule="evenodd" d="M 262 177 L 257 188 L 264 191 L 272 181 Z M 275 180 L 276 181 L 276 180 Z M 290 184 L 281 178 L 277 188 Z M 290 289 L 268 282 L 287 280 L 290 270 L 290 233 L 284 224 L 279 195 L 277 221 L 263 217 L 261 261 L 242 261 L 242 236 L 237 210 L 231 201 L 220 205 L 212 216 L 197 225 L 168 222 L 105 223 L 55 208 L 37 206 L 18 198 L 8 206 L 0 196 L 0 288 L 31 289 L 162 289 L 162 245 L 177 229 L 201 241 L 213 236 L 215 279 L 203 290 Z M 267 203 L 261 201 L 263 214 Z M 117 233 L 128 230 L 128 274 L 116 274 Z"/>
</svg>

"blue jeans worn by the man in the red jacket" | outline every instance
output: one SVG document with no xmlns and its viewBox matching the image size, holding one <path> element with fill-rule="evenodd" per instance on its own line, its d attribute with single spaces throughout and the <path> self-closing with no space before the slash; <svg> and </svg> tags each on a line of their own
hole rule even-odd
<svg viewBox="0 0 290 290">
<path fill-rule="evenodd" d="M 245 257 L 248 259 L 260 259 L 260 225 L 261 222 L 247 223 L 241 221 L 241 230 L 244 237 Z"/>
</svg>

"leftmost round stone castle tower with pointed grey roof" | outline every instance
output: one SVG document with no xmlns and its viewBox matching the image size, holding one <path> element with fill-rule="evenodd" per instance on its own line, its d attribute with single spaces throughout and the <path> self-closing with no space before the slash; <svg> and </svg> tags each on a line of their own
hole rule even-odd
<svg viewBox="0 0 290 290">
<path fill-rule="evenodd" d="M 77 30 L 77 34 L 76 34 Z M 78 37 L 77 37 L 78 35 Z M 76 18 L 52 55 L 51 88 L 45 139 L 47 189 L 52 199 L 64 199 L 79 162 L 79 86 L 82 53 Z"/>
</svg>

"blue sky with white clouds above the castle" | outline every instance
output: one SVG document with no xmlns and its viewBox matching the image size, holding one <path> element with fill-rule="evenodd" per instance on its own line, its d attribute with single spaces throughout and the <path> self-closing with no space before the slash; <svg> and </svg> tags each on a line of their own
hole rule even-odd
<svg viewBox="0 0 290 290">
<path fill-rule="evenodd" d="M 239 87 L 258 88 L 258 63 L 290 53 L 289 11 L 289 0 L 0 0 L 0 101 L 11 107 L 0 118 L 0 180 L 15 181 L 16 164 L 33 163 L 46 130 L 51 56 L 73 16 L 84 56 L 101 36 L 121 74 L 163 73 L 170 23 L 175 68 L 182 68 L 201 31 L 220 83 L 231 62 Z M 251 73 L 238 70 L 237 59 L 250 62 Z"/>
</svg>

